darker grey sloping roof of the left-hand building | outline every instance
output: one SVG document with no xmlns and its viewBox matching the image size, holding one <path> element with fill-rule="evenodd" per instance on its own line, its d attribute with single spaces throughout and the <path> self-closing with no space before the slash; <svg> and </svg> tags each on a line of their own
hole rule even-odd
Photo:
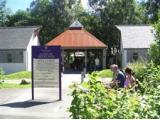
<svg viewBox="0 0 160 120">
<path fill-rule="evenodd" d="M 0 49 L 26 49 L 37 26 L 0 27 Z"/>
</svg>

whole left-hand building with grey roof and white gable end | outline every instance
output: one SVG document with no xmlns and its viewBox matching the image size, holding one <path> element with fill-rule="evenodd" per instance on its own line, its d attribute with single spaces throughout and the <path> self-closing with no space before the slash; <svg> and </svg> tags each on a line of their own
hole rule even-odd
<svg viewBox="0 0 160 120">
<path fill-rule="evenodd" d="M 39 45 L 39 27 L 0 28 L 0 67 L 6 74 L 31 71 L 31 46 Z"/>
</svg>

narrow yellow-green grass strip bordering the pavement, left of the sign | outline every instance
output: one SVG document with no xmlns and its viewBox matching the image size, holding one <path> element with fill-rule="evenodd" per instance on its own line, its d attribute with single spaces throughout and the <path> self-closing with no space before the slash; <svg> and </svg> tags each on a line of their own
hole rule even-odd
<svg viewBox="0 0 160 120">
<path fill-rule="evenodd" d="M 30 88 L 31 84 L 27 85 L 20 85 L 20 84 L 13 84 L 13 83 L 2 83 L 0 84 L 0 89 L 2 88 Z"/>
</svg>

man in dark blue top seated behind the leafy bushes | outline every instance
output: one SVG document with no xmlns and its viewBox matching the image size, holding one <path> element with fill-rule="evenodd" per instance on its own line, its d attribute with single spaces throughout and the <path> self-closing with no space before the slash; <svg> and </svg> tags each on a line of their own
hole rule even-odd
<svg viewBox="0 0 160 120">
<path fill-rule="evenodd" d="M 111 65 L 111 71 L 113 72 L 113 79 L 112 79 L 112 84 L 113 85 L 117 85 L 117 87 L 119 88 L 123 88 L 124 87 L 124 82 L 125 82 L 125 74 L 118 68 L 118 65 L 113 64 Z"/>
</svg>

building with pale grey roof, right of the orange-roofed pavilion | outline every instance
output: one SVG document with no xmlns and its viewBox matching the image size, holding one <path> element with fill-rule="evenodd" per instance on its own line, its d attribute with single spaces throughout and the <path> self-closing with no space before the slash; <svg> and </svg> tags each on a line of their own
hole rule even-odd
<svg viewBox="0 0 160 120">
<path fill-rule="evenodd" d="M 122 67 L 138 59 L 148 59 L 148 49 L 154 41 L 154 30 L 148 25 L 120 25 Z"/>
</svg>

